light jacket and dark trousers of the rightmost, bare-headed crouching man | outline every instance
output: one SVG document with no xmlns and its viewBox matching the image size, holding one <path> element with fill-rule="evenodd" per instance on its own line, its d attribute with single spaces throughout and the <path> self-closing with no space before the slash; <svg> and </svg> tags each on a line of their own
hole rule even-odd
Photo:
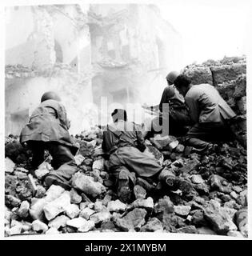
<svg viewBox="0 0 252 256">
<path fill-rule="evenodd" d="M 186 93 L 185 102 L 195 124 L 186 134 L 188 145 L 204 149 L 208 141 L 220 141 L 230 137 L 227 122 L 236 114 L 214 86 L 192 86 Z"/>
</svg>

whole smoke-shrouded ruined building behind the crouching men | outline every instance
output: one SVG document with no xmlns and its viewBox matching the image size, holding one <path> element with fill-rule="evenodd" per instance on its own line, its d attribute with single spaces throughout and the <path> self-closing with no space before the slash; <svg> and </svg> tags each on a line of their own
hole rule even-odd
<svg viewBox="0 0 252 256">
<path fill-rule="evenodd" d="M 76 134 L 101 97 L 158 103 L 181 38 L 153 5 L 6 8 L 6 134 L 19 134 L 46 90 L 58 91 Z"/>
</svg>

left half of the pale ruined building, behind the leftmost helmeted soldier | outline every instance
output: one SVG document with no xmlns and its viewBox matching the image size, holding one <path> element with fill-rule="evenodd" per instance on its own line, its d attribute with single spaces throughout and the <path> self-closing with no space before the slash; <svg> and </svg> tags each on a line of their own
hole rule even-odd
<svg viewBox="0 0 252 256">
<path fill-rule="evenodd" d="M 74 20 L 79 15 L 74 9 L 32 6 L 6 10 L 6 134 L 19 134 L 22 127 L 17 122 L 14 129 L 11 114 L 27 109 L 31 113 L 46 90 L 60 94 L 72 121 L 71 133 L 89 123 L 85 104 L 93 101 L 90 34 L 85 21 Z M 27 27 L 22 25 L 26 22 Z M 16 34 L 19 24 L 21 32 Z M 56 62 L 55 41 L 62 50 L 62 63 Z"/>
</svg>

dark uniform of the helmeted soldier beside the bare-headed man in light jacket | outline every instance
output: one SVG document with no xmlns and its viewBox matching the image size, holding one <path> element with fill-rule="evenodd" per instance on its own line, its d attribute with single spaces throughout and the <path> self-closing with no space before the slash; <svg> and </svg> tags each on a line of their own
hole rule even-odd
<svg viewBox="0 0 252 256">
<path fill-rule="evenodd" d="M 154 132 L 160 131 L 161 128 L 164 135 L 179 135 L 185 132 L 184 126 L 190 124 L 190 117 L 183 96 L 174 86 L 166 86 L 159 103 L 159 110 L 162 114 L 152 122 Z"/>
</svg>

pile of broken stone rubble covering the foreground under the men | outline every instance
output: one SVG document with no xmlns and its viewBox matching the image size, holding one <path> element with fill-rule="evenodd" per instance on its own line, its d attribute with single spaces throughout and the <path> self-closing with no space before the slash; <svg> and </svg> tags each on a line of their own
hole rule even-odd
<svg viewBox="0 0 252 256">
<path fill-rule="evenodd" d="M 22 162 L 10 159 L 19 152 L 14 148 L 21 148 L 18 138 L 6 138 L 6 236 L 120 231 L 247 236 L 246 150 L 237 142 L 223 144 L 208 155 L 185 156 L 179 138 L 155 136 L 146 141 L 150 153 L 186 178 L 193 190 L 185 195 L 137 178 L 131 202 L 124 203 L 106 168 L 102 130 L 95 127 L 76 135 L 76 140 L 78 172 L 67 191 L 43 186 L 43 177 L 51 170 L 50 158 L 31 177 L 29 152 Z"/>
</svg>

